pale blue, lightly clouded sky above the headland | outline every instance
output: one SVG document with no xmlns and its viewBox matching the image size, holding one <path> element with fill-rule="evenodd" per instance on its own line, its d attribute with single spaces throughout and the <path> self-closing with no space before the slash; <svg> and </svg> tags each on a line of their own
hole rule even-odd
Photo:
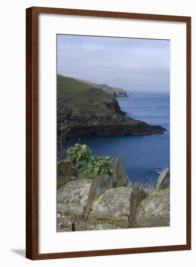
<svg viewBox="0 0 196 267">
<path fill-rule="evenodd" d="M 58 34 L 57 73 L 127 91 L 169 93 L 170 41 Z"/>
</svg>

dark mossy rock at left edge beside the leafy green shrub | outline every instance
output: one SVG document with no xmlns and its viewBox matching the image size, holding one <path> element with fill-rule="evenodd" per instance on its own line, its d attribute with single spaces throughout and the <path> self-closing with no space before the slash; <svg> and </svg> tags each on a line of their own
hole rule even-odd
<svg viewBox="0 0 196 267">
<path fill-rule="evenodd" d="M 71 181 L 72 177 L 78 177 L 77 168 L 72 167 L 72 162 L 69 159 L 60 161 L 57 164 L 57 190 Z"/>
</svg>

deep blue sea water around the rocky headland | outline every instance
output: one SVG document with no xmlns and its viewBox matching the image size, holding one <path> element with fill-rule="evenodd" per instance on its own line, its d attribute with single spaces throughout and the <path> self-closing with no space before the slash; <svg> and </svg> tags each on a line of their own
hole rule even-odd
<svg viewBox="0 0 196 267">
<path fill-rule="evenodd" d="M 117 98 L 121 110 L 129 117 L 166 128 L 164 134 L 147 136 L 81 137 L 94 155 L 121 154 L 121 161 L 131 182 L 155 181 L 159 172 L 170 167 L 170 99 L 169 94 L 129 93 Z"/>
</svg>

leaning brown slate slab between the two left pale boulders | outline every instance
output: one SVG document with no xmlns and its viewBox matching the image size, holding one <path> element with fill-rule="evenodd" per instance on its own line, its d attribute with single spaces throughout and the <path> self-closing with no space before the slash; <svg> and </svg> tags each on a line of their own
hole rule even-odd
<svg viewBox="0 0 196 267">
<path fill-rule="evenodd" d="M 93 179 L 85 207 L 85 217 L 89 216 L 93 200 L 97 199 L 108 188 L 112 188 L 112 179 L 109 175 L 99 175 Z"/>
</svg>

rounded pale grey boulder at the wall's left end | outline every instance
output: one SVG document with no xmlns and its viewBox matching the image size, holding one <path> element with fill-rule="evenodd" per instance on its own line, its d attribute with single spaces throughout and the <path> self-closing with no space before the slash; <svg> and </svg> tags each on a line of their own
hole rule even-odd
<svg viewBox="0 0 196 267">
<path fill-rule="evenodd" d="M 64 184 L 57 191 L 57 210 L 84 215 L 91 183 L 90 179 L 75 179 Z"/>
</svg>

